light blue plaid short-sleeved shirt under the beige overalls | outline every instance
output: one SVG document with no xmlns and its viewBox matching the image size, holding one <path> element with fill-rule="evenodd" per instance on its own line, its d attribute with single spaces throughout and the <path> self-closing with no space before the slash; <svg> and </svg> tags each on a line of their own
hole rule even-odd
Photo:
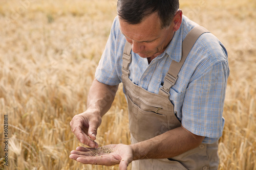
<svg viewBox="0 0 256 170">
<path fill-rule="evenodd" d="M 181 60 L 182 41 L 195 26 L 198 25 L 183 15 L 181 27 L 175 32 L 166 50 L 150 64 L 146 58 L 132 52 L 132 82 L 158 93 L 172 60 Z M 116 17 L 96 69 L 95 77 L 99 82 L 108 85 L 121 83 L 125 42 Z M 225 47 L 214 35 L 205 33 L 194 44 L 176 84 L 170 89 L 169 99 L 174 104 L 174 112 L 182 126 L 196 135 L 205 136 L 203 143 L 214 143 L 222 136 L 222 113 L 228 75 Z"/>
</svg>

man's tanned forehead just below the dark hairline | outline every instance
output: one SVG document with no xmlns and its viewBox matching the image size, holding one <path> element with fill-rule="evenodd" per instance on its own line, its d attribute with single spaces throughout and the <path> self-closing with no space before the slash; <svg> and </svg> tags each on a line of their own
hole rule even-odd
<svg viewBox="0 0 256 170">
<path fill-rule="evenodd" d="M 119 18 L 120 30 L 135 41 L 148 41 L 161 34 L 161 22 L 157 13 L 147 16 L 141 23 L 132 25 Z"/>
</svg>

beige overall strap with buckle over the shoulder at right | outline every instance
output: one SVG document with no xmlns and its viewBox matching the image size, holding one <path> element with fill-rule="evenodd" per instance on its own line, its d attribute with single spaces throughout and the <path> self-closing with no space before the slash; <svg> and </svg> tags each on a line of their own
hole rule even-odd
<svg viewBox="0 0 256 170">
<path fill-rule="evenodd" d="M 159 94 L 166 96 L 169 96 L 170 88 L 175 85 L 178 74 L 180 72 L 180 69 L 185 62 L 188 53 L 190 52 L 191 48 L 197 41 L 197 39 L 203 34 L 208 33 L 209 31 L 205 28 L 198 26 L 194 27 L 185 37 L 184 41 L 182 42 L 182 56 L 180 62 L 172 61 L 170 64 L 169 70 L 164 78 L 164 84 L 163 87 L 159 89 Z"/>
</svg>

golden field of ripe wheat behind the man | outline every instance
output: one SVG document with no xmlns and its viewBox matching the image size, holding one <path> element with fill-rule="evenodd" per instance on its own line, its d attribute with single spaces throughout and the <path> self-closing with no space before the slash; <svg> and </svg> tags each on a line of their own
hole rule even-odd
<svg viewBox="0 0 256 170">
<path fill-rule="evenodd" d="M 180 9 L 229 54 L 219 169 L 256 169 L 256 2 L 180 0 Z M 82 145 L 69 122 L 86 110 L 115 16 L 116 0 L 0 1 L 0 169 L 118 169 L 69 159 Z M 96 141 L 129 144 L 127 117 L 120 85 Z"/>
</svg>

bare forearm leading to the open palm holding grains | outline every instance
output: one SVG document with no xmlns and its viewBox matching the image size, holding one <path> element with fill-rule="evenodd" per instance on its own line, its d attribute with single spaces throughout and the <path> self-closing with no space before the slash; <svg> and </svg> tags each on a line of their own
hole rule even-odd
<svg viewBox="0 0 256 170">
<path fill-rule="evenodd" d="M 172 158 L 198 147 L 203 139 L 179 127 L 152 139 L 131 144 L 133 160 Z"/>
</svg>

